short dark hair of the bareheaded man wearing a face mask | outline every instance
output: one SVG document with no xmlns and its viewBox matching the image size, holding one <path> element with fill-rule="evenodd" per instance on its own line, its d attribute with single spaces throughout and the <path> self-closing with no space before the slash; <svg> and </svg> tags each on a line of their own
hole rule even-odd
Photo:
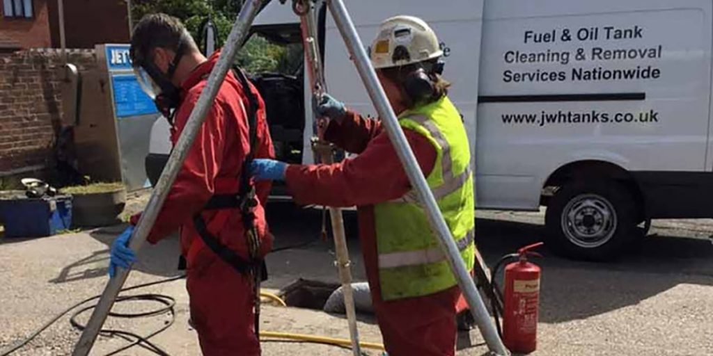
<svg viewBox="0 0 713 356">
<path fill-rule="evenodd" d="M 167 14 L 148 14 L 133 29 L 129 56 L 135 66 L 143 66 L 152 59 L 154 48 L 178 51 L 182 45 L 185 52 L 198 51 L 193 37 L 179 19 Z"/>
</svg>

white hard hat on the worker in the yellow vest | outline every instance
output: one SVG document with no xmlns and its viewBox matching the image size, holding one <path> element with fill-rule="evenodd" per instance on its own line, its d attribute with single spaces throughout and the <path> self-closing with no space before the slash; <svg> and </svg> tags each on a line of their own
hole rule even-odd
<svg viewBox="0 0 713 356">
<path fill-rule="evenodd" d="M 369 50 L 374 68 L 406 66 L 443 56 L 436 33 L 415 16 L 394 16 L 379 26 Z"/>
</svg>

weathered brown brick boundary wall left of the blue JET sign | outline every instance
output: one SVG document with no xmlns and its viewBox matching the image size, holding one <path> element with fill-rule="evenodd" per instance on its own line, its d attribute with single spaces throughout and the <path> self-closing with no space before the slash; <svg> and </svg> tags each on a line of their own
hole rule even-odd
<svg viewBox="0 0 713 356">
<path fill-rule="evenodd" d="M 61 126 L 60 51 L 0 55 L 0 176 L 47 167 Z M 96 67 L 94 51 L 69 52 L 79 70 Z"/>
</svg>

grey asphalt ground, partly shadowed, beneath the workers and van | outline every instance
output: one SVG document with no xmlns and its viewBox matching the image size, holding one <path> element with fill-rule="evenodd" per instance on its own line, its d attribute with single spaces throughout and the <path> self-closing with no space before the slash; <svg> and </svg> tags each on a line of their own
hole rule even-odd
<svg viewBox="0 0 713 356">
<path fill-rule="evenodd" d="M 140 206 L 140 204 L 134 204 Z M 492 265 L 500 256 L 543 239 L 543 214 L 478 211 L 476 240 Z M 279 290 L 297 278 L 337 282 L 332 244 L 319 239 L 321 213 L 291 204 L 270 206 L 276 247 L 297 246 L 268 258 L 270 280 Z M 356 239 L 356 215 L 346 214 L 353 273 L 364 280 Z M 21 340 L 73 303 L 101 293 L 106 285 L 108 246 L 123 226 L 42 239 L 0 239 L 0 350 Z M 536 263 L 543 268 L 538 350 L 532 355 L 713 355 L 713 220 L 655 221 L 642 247 L 611 263 L 569 261 L 547 248 Z M 166 239 L 140 251 L 126 286 L 178 276 L 178 240 Z M 199 355 L 188 324 L 183 280 L 133 293 L 162 293 L 176 300 L 175 322 L 152 340 L 170 355 Z M 122 303 L 115 310 L 149 310 L 160 305 Z M 88 313 L 80 315 L 86 321 Z M 168 315 L 110 318 L 107 327 L 146 335 L 168 323 Z M 380 342 L 374 318 L 360 315 L 362 340 Z M 265 305 L 262 330 L 349 337 L 341 315 Z M 78 331 L 62 318 L 14 355 L 68 355 Z M 125 345 L 119 337 L 99 337 L 92 355 Z M 263 355 L 352 355 L 334 346 L 266 341 Z M 478 330 L 461 333 L 458 355 L 485 355 Z M 133 347 L 118 355 L 153 355 Z M 369 351 L 368 355 L 379 355 Z"/>
</svg>

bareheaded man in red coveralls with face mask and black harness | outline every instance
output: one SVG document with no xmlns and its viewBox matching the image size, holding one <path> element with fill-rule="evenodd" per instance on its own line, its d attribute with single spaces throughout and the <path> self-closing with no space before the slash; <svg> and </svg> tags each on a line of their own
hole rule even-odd
<svg viewBox="0 0 713 356">
<path fill-rule="evenodd" d="M 218 55 L 202 56 L 183 24 L 165 14 L 145 16 L 133 31 L 133 66 L 145 91 L 166 117 L 173 117 L 174 145 Z M 242 73 L 229 72 L 148 235 L 155 244 L 181 228 L 190 318 L 204 355 L 260 355 L 253 307 L 255 277 L 272 248 L 263 209 L 270 183 L 253 186 L 249 174 L 243 174 L 251 128 L 256 130 L 253 155 L 274 157 L 260 94 Z M 240 208 L 248 200 L 254 208 Z M 126 246 L 132 231 L 129 227 L 111 247 L 112 276 L 117 267 L 135 261 Z M 259 246 L 251 251 L 255 241 Z"/>
</svg>

